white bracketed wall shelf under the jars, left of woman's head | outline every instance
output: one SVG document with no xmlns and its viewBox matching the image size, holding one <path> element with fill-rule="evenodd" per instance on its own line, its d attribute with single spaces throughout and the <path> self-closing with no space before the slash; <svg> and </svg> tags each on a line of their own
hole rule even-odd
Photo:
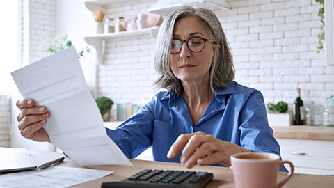
<svg viewBox="0 0 334 188">
<path fill-rule="evenodd" d="M 121 38 L 126 36 L 138 36 L 143 34 L 150 34 L 152 37 L 157 38 L 159 32 L 159 26 L 153 26 L 145 29 L 138 29 L 133 31 L 122 31 L 119 33 L 97 34 L 94 36 L 85 37 L 85 41 L 88 45 L 92 45 L 96 49 L 97 61 L 100 64 L 104 64 L 104 40 L 110 38 Z"/>
</svg>

